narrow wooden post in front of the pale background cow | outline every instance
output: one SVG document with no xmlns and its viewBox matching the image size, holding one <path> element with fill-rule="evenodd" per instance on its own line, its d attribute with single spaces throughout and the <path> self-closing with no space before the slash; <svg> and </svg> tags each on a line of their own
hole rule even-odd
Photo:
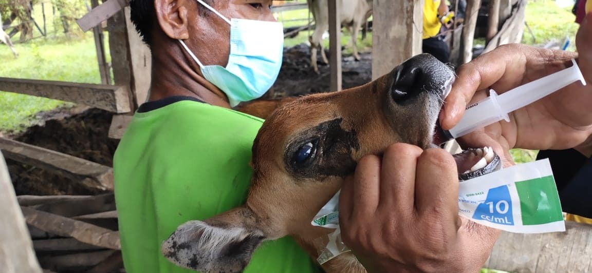
<svg viewBox="0 0 592 273">
<path fill-rule="evenodd" d="M 341 1 L 329 0 L 329 65 L 332 91 L 339 91 L 342 87 L 340 10 Z"/>
</svg>

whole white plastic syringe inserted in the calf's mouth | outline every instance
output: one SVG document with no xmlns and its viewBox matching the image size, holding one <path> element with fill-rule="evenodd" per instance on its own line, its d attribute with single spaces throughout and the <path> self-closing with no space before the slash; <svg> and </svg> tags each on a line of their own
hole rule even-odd
<svg viewBox="0 0 592 273">
<path fill-rule="evenodd" d="M 518 86 L 501 95 L 497 95 L 494 90 L 490 90 L 490 96 L 487 99 L 469 105 L 461 121 L 448 132 L 445 131 L 445 134 L 450 139 L 458 138 L 502 119 L 510 121 L 508 113 L 536 102 L 536 100 L 542 99 L 556 90 L 578 80 L 582 85 L 586 85 L 580 67 L 575 63 L 575 60 L 572 60 L 572 63 L 574 65 L 567 69 L 542 77 L 526 85 Z"/>
</svg>

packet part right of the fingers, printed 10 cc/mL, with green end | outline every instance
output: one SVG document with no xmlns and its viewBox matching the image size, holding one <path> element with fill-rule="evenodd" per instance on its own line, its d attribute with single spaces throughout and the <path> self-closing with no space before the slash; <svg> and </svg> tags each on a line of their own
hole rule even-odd
<svg viewBox="0 0 592 273">
<path fill-rule="evenodd" d="M 504 168 L 461 181 L 459 215 L 514 233 L 565 231 L 549 160 Z"/>
</svg>

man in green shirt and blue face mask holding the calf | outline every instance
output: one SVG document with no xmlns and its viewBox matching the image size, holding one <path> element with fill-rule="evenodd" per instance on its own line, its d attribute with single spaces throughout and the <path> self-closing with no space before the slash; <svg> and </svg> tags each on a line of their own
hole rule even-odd
<svg viewBox="0 0 592 273">
<path fill-rule="evenodd" d="M 126 271 L 188 272 L 160 245 L 188 220 L 246 199 L 262 120 L 232 111 L 271 87 L 283 32 L 271 0 L 132 0 L 131 19 L 152 50 L 148 102 L 115 152 L 115 200 Z M 245 20 L 247 19 L 247 20 Z M 247 272 L 315 272 L 292 238 L 263 243 Z"/>
</svg>

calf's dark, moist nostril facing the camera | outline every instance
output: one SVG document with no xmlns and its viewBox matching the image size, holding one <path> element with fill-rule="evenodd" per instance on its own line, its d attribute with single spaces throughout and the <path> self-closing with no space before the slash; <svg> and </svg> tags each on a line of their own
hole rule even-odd
<svg viewBox="0 0 592 273">
<path fill-rule="evenodd" d="M 391 87 L 392 99 L 395 102 L 401 102 L 413 98 L 413 95 L 419 93 L 423 88 L 423 76 L 423 70 L 419 67 L 413 67 L 411 69 L 403 67 L 403 69 L 398 70 Z"/>
</svg>

